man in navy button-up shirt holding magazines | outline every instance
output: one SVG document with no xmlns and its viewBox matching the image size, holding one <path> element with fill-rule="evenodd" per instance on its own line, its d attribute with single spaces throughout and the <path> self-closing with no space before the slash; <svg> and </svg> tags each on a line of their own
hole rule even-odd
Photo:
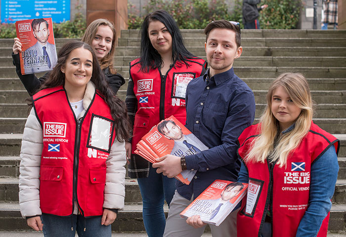
<svg viewBox="0 0 346 237">
<path fill-rule="evenodd" d="M 165 237 L 203 234 L 204 223 L 191 218 L 185 222 L 179 214 L 216 179 L 237 180 L 240 162 L 236 141 L 255 117 L 254 94 L 233 71 L 233 61 L 243 50 L 239 23 L 213 21 L 206 27 L 205 33 L 210 68 L 187 86 L 186 127 L 209 149 L 185 157 L 166 155 L 153 164 L 158 173 L 168 177 L 174 177 L 182 169 L 197 170 L 190 185 L 176 185 Z M 233 211 L 220 226 L 210 225 L 212 235 L 235 237 L 236 215 L 237 211 Z"/>
</svg>

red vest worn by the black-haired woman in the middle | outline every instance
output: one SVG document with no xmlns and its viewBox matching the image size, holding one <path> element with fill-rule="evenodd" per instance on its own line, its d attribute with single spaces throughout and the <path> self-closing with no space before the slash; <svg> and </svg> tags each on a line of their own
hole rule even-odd
<svg viewBox="0 0 346 237">
<path fill-rule="evenodd" d="M 130 62 L 130 77 L 133 92 L 137 98 L 137 112 L 134 116 L 132 153 L 136 144 L 161 120 L 174 115 L 182 124 L 186 122 L 185 93 L 187 84 L 201 76 L 207 67 L 205 60 L 191 58 L 185 63 L 175 62 L 164 80 L 158 68 L 144 73 L 140 71 L 139 58 Z"/>
</svg>

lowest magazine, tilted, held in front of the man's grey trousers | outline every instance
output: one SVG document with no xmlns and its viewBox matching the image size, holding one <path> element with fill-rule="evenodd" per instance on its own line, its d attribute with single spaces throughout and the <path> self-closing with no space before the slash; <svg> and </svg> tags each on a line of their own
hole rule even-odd
<svg viewBox="0 0 346 237">
<path fill-rule="evenodd" d="M 219 226 L 245 196 L 247 188 L 246 183 L 216 180 L 180 216 L 199 215 L 203 222 Z"/>
</svg>

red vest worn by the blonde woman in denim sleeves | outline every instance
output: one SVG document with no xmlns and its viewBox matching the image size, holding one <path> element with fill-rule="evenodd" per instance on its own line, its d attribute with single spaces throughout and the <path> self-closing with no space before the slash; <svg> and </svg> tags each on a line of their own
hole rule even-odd
<svg viewBox="0 0 346 237">
<path fill-rule="evenodd" d="M 260 133 L 259 126 L 250 126 L 240 135 L 238 155 L 242 160 L 249 152 L 251 142 Z M 272 236 L 296 237 L 308 207 L 311 164 L 332 145 L 338 154 L 339 140 L 311 122 L 308 134 L 289 155 L 286 167 L 280 168 L 275 164 L 270 171 L 267 161 L 254 163 L 243 160 L 249 172 L 249 197 L 244 197 L 238 212 L 237 236 L 260 236 L 272 186 Z M 317 237 L 327 236 L 328 221 L 329 214 L 322 222 Z"/>
</svg>

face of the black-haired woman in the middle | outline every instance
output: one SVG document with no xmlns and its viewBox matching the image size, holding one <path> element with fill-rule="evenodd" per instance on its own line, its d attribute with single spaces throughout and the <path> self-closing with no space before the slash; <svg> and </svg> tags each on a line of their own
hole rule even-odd
<svg viewBox="0 0 346 237">
<path fill-rule="evenodd" d="M 172 36 L 161 21 L 151 21 L 148 26 L 148 35 L 152 46 L 163 55 L 172 53 Z"/>
</svg>

